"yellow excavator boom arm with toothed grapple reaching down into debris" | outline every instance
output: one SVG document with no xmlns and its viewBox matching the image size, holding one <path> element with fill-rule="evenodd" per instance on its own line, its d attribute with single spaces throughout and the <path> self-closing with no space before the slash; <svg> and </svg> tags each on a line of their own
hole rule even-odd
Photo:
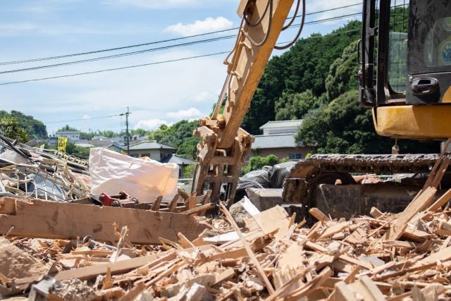
<svg viewBox="0 0 451 301">
<path fill-rule="evenodd" d="M 235 47 L 224 61 L 228 76 L 221 96 L 212 116 L 202 118 L 200 127 L 194 130 L 194 136 L 202 137 L 202 141 L 197 145 L 192 192 L 202 194 L 208 183 L 211 199 L 217 201 L 221 185 L 227 184 L 226 199 L 233 201 L 241 167 L 254 140 L 240 125 L 292 3 L 293 0 L 240 2 L 237 13 L 242 23 Z"/>
</svg>

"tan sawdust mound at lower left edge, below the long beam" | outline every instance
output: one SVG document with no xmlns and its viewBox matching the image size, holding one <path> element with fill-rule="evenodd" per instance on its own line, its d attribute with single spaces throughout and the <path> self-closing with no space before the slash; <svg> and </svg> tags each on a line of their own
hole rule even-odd
<svg viewBox="0 0 451 301">
<path fill-rule="evenodd" d="M 13 245 L 6 238 L 0 237 L 0 272 L 8 278 L 24 278 L 47 274 L 48 268 Z"/>
</svg>

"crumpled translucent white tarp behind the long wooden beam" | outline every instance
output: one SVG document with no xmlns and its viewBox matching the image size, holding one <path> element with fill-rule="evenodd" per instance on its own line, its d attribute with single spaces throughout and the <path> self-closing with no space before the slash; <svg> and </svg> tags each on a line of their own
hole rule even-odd
<svg viewBox="0 0 451 301">
<path fill-rule="evenodd" d="M 132 158 L 102 147 L 89 154 L 91 193 L 116 195 L 121 190 L 140 202 L 152 202 L 160 195 L 171 200 L 177 193 L 178 165 L 151 159 Z"/>
</svg>

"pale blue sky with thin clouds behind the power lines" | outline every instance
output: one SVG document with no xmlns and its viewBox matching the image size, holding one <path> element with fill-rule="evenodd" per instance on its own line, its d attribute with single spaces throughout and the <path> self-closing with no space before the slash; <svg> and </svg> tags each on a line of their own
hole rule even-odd
<svg viewBox="0 0 451 301">
<path fill-rule="evenodd" d="M 259 0 L 264 1 L 264 0 Z M 307 13 L 358 4 L 359 0 L 308 1 Z M 237 27 L 238 0 L 0 0 L 0 63 L 161 41 Z M 359 13 L 361 6 L 307 16 L 306 22 Z M 356 17 L 353 17 L 356 18 Z M 350 18 L 307 25 L 301 37 L 326 34 Z M 299 23 L 299 21 L 295 21 Z M 235 32 L 88 56 L 0 65 L 0 72 L 232 35 Z M 288 42 L 296 29 L 279 38 Z M 3 82 L 47 78 L 229 51 L 234 39 L 147 52 L 118 59 L 0 74 Z M 274 51 L 273 55 L 281 54 Z M 125 128 L 118 115 L 130 107 L 130 127 L 155 129 L 206 116 L 216 102 L 225 54 L 106 73 L 0 85 L 0 109 L 22 111 L 47 125 L 84 131 Z M 113 116 L 106 117 L 105 116 Z"/>
</svg>

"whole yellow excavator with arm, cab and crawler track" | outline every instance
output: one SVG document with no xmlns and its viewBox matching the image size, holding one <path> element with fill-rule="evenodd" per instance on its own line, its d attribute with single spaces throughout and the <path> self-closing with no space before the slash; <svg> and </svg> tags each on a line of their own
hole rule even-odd
<svg viewBox="0 0 451 301">
<path fill-rule="evenodd" d="M 227 78 L 211 116 L 200 120 L 194 136 L 197 167 L 192 192 L 212 190 L 217 202 L 233 204 L 240 171 L 254 138 L 240 128 L 252 96 L 288 18 L 292 0 L 242 0 L 235 47 L 224 63 Z M 295 5 L 295 16 L 300 0 Z M 286 20 L 290 21 L 286 23 Z M 451 137 L 451 1 L 364 0 L 358 47 L 359 102 L 371 108 L 378 135 L 412 140 Z M 356 99 L 357 101 L 357 99 Z M 223 113 L 221 114 L 221 110 Z M 362 185 L 352 175 L 427 174 L 438 154 L 315 154 L 292 166 L 280 196 L 297 204 L 301 216 L 318 207 L 333 218 L 368 214 L 376 206 L 402 210 L 419 190 L 418 179 Z M 336 185 L 340 183 L 340 185 Z"/>
</svg>

